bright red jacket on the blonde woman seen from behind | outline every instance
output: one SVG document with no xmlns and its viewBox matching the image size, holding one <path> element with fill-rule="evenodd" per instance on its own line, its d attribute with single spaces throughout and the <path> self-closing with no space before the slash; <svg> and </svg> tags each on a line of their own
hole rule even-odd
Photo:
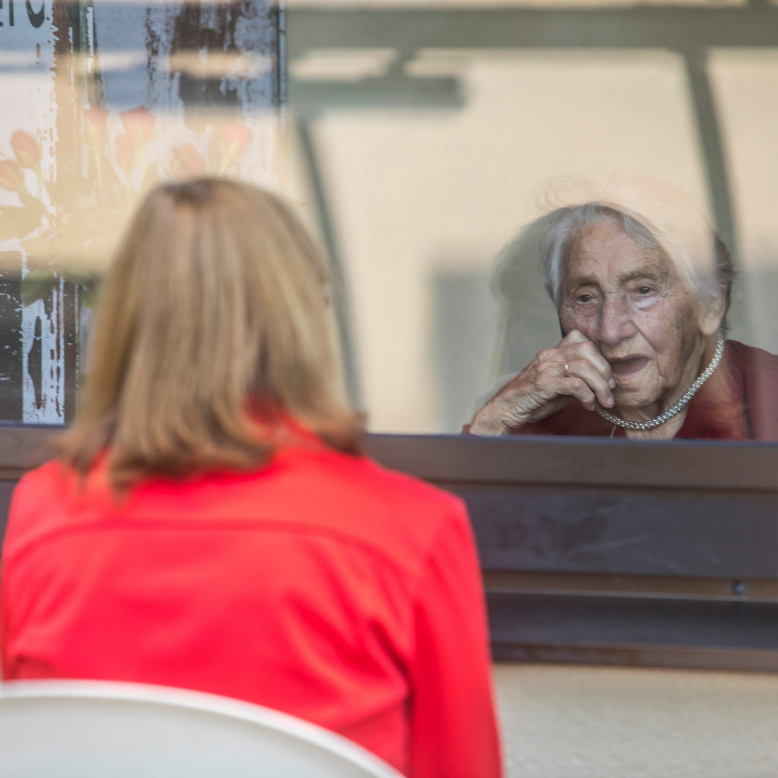
<svg viewBox="0 0 778 778">
<path fill-rule="evenodd" d="M 415 778 L 496 778 L 462 503 L 313 438 L 117 503 L 50 462 L 14 493 L 5 678 L 198 689 L 334 730 Z"/>
</svg>

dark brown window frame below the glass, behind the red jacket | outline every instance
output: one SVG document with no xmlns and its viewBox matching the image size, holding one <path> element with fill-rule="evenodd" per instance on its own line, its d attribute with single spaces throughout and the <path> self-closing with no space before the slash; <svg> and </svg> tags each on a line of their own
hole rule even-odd
<svg viewBox="0 0 778 778">
<path fill-rule="evenodd" d="M 3 530 L 61 430 L 0 425 Z M 496 661 L 778 671 L 778 443 L 370 434 L 367 452 L 465 500 Z"/>
</svg>

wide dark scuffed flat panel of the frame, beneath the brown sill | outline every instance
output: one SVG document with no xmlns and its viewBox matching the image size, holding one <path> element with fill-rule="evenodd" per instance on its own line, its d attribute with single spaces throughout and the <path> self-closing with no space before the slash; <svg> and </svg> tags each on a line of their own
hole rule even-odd
<svg viewBox="0 0 778 778">
<path fill-rule="evenodd" d="M 778 496 L 452 490 L 484 570 L 778 580 Z"/>
</svg>

